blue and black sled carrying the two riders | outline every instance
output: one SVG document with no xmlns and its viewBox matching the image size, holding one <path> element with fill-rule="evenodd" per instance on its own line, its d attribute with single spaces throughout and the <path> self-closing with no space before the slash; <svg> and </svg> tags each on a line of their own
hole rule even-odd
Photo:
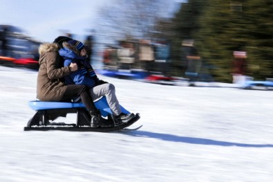
<svg viewBox="0 0 273 182">
<path fill-rule="evenodd" d="M 140 119 L 140 114 L 136 113 L 135 117 L 126 123 L 115 123 L 111 117 L 112 111 L 103 97 L 95 102 L 95 107 L 100 110 L 102 116 L 109 123 L 113 123 L 113 127 L 90 127 L 91 116 L 84 107 L 82 102 L 41 102 L 30 101 L 29 106 L 37 111 L 35 115 L 28 121 L 24 131 L 36 130 L 62 130 L 62 131 L 117 131 L 133 125 L 134 122 Z M 123 113 L 130 113 L 124 107 L 120 106 Z M 66 117 L 67 113 L 76 113 L 76 122 L 73 124 L 66 124 L 64 122 L 53 122 L 59 117 Z M 138 128 L 136 128 L 138 129 Z M 133 130 L 132 130 L 133 131 Z"/>
</svg>

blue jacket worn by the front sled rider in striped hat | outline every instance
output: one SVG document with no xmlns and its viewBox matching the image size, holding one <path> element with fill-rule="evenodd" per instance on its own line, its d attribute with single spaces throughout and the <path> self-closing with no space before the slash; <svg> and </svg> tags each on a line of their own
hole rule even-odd
<svg viewBox="0 0 273 182">
<path fill-rule="evenodd" d="M 79 56 L 66 47 L 59 50 L 59 55 L 64 57 L 64 66 L 69 66 L 72 62 L 77 63 L 78 66 L 77 71 L 64 78 L 66 84 L 84 84 L 89 88 L 97 86 L 99 80 L 86 57 Z"/>
</svg>

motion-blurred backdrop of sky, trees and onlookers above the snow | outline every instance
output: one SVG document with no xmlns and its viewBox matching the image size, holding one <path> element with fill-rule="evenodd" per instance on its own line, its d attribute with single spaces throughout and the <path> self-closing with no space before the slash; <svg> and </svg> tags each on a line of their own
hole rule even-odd
<svg viewBox="0 0 273 182">
<path fill-rule="evenodd" d="M 273 78 L 272 0 L 0 0 L 0 64 L 38 69 L 39 44 L 67 35 L 107 71 L 191 81 Z"/>
</svg>

